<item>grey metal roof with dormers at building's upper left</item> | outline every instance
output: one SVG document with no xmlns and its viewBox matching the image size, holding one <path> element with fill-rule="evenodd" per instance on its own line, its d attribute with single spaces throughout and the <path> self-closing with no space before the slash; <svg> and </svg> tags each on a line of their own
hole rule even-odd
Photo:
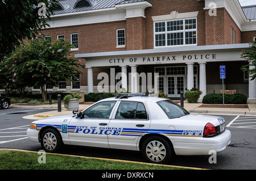
<svg viewBox="0 0 256 181">
<path fill-rule="evenodd" d="M 54 11 L 55 15 L 67 14 L 67 13 L 71 13 L 71 12 L 107 9 L 107 8 L 115 7 L 115 5 L 124 5 L 124 4 L 128 4 L 128 3 L 149 2 L 147 0 L 129 0 L 129 1 L 124 1 L 124 0 L 86 0 L 92 6 L 75 8 L 76 3 L 79 1 L 81 1 L 81 0 L 59 0 L 59 4 L 61 5 L 61 7 L 63 7 L 64 10 Z"/>
</svg>

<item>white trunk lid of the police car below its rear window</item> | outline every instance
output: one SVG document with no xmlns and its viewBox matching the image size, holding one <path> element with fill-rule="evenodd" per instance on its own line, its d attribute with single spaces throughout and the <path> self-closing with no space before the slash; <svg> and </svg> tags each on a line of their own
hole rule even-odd
<svg viewBox="0 0 256 181">
<path fill-rule="evenodd" d="M 185 115 L 181 116 L 179 118 L 179 121 L 191 121 L 191 122 L 197 122 L 202 124 L 212 123 L 215 127 L 225 123 L 225 120 L 221 116 L 211 116 L 211 115 Z"/>
</svg>

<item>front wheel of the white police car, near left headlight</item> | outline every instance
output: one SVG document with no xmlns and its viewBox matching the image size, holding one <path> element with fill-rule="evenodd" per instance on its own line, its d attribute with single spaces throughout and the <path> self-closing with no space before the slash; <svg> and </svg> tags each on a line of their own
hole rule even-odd
<svg viewBox="0 0 256 181">
<path fill-rule="evenodd" d="M 42 148 L 48 153 L 57 153 L 63 147 L 60 134 L 52 128 L 43 131 L 40 137 Z"/>
</svg>

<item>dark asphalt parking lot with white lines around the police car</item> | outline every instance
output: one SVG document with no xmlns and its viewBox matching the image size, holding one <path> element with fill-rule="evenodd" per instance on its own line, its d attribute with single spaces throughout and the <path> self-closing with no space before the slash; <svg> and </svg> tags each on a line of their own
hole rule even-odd
<svg viewBox="0 0 256 181">
<path fill-rule="evenodd" d="M 41 150 L 39 143 L 27 138 L 26 130 L 33 120 L 22 117 L 47 111 L 49 110 L 0 110 L 0 149 Z M 226 129 L 232 132 L 232 141 L 224 151 L 217 154 L 217 163 L 209 163 L 210 155 L 176 156 L 170 165 L 203 169 L 256 169 L 256 116 L 222 115 L 222 117 L 226 120 Z M 144 162 L 141 153 L 137 151 L 67 146 L 61 153 Z"/>
</svg>

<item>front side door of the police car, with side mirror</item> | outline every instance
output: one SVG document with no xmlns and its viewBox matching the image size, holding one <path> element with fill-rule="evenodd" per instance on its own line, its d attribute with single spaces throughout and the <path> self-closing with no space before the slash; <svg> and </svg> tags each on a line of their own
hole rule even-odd
<svg viewBox="0 0 256 181">
<path fill-rule="evenodd" d="M 108 124 L 116 101 L 94 104 L 74 117 L 68 125 L 69 142 L 72 145 L 109 148 Z"/>
</svg>

